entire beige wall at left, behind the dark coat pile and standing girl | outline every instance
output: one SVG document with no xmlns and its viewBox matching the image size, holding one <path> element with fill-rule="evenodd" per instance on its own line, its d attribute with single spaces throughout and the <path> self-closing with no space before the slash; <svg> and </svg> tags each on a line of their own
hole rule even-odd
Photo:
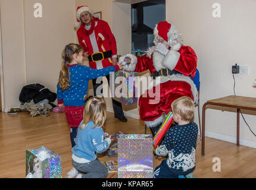
<svg viewBox="0 0 256 190">
<path fill-rule="evenodd" d="M 42 18 L 34 17 L 35 3 Z M 21 88 L 40 83 L 56 91 L 61 52 L 76 42 L 74 0 L 0 0 L 4 111 L 19 107 Z"/>
</svg>

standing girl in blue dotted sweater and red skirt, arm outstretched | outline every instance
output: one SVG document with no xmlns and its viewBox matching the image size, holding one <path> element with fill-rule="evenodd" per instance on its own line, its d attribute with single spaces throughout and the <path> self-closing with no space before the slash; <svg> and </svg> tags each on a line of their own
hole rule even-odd
<svg viewBox="0 0 256 190">
<path fill-rule="evenodd" d="M 71 145 L 74 147 L 77 127 L 83 119 L 84 97 L 87 94 L 89 80 L 109 75 L 110 72 L 123 68 L 123 65 L 117 64 L 103 69 L 79 65 L 83 61 L 83 47 L 74 43 L 65 46 L 62 56 L 63 66 L 57 84 L 57 99 L 58 106 L 65 107 L 65 116 L 70 125 Z"/>
</svg>

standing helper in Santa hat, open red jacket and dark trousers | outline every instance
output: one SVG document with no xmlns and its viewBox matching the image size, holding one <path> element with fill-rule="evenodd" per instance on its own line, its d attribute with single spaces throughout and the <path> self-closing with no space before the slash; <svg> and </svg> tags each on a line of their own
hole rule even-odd
<svg viewBox="0 0 256 190">
<path fill-rule="evenodd" d="M 88 6 L 77 7 L 77 37 L 83 47 L 84 56 L 88 57 L 89 65 L 93 69 L 106 68 L 117 64 L 117 45 L 115 37 L 108 23 L 93 17 L 93 10 Z M 110 84 L 110 75 L 107 75 Z M 101 83 L 99 83 L 101 81 Z M 92 80 L 94 96 L 102 94 L 102 78 Z M 101 87 L 100 87 L 101 86 Z M 98 88 L 99 87 L 99 88 Z M 97 91 L 101 89 L 101 92 Z M 120 102 L 112 99 L 115 118 L 127 122 Z"/>
</svg>

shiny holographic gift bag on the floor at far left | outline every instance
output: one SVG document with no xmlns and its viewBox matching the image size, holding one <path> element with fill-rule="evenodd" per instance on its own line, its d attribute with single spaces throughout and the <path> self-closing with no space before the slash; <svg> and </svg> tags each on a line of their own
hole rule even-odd
<svg viewBox="0 0 256 190">
<path fill-rule="evenodd" d="M 42 146 L 26 150 L 26 178 L 62 178 L 61 157 Z"/>
</svg>

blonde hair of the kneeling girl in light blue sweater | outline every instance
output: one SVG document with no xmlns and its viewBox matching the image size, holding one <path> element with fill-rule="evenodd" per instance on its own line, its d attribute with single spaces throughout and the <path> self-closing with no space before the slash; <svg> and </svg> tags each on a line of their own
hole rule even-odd
<svg viewBox="0 0 256 190">
<path fill-rule="evenodd" d="M 83 110 L 83 124 L 81 129 L 85 129 L 86 125 L 92 121 L 93 128 L 96 126 L 102 127 L 107 118 L 107 106 L 104 97 L 92 97 L 85 104 Z"/>
</svg>

